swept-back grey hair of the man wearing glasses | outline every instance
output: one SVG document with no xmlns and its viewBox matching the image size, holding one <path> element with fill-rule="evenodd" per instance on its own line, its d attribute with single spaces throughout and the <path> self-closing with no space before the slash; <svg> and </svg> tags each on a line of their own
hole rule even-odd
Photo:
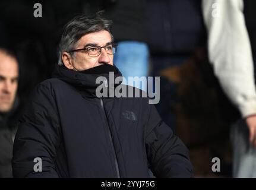
<svg viewBox="0 0 256 190">
<path fill-rule="evenodd" d="M 59 43 L 59 66 L 63 65 L 62 53 L 75 49 L 77 47 L 78 40 L 80 40 L 85 34 L 106 30 L 110 33 L 113 42 L 113 35 L 110 32 L 112 21 L 101 17 L 101 14 L 102 11 L 97 12 L 94 17 L 79 15 L 65 25 L 61 42 Z M 75 52 L 71 52 L 69 54 L 74 58 Z"/>
</svg>

